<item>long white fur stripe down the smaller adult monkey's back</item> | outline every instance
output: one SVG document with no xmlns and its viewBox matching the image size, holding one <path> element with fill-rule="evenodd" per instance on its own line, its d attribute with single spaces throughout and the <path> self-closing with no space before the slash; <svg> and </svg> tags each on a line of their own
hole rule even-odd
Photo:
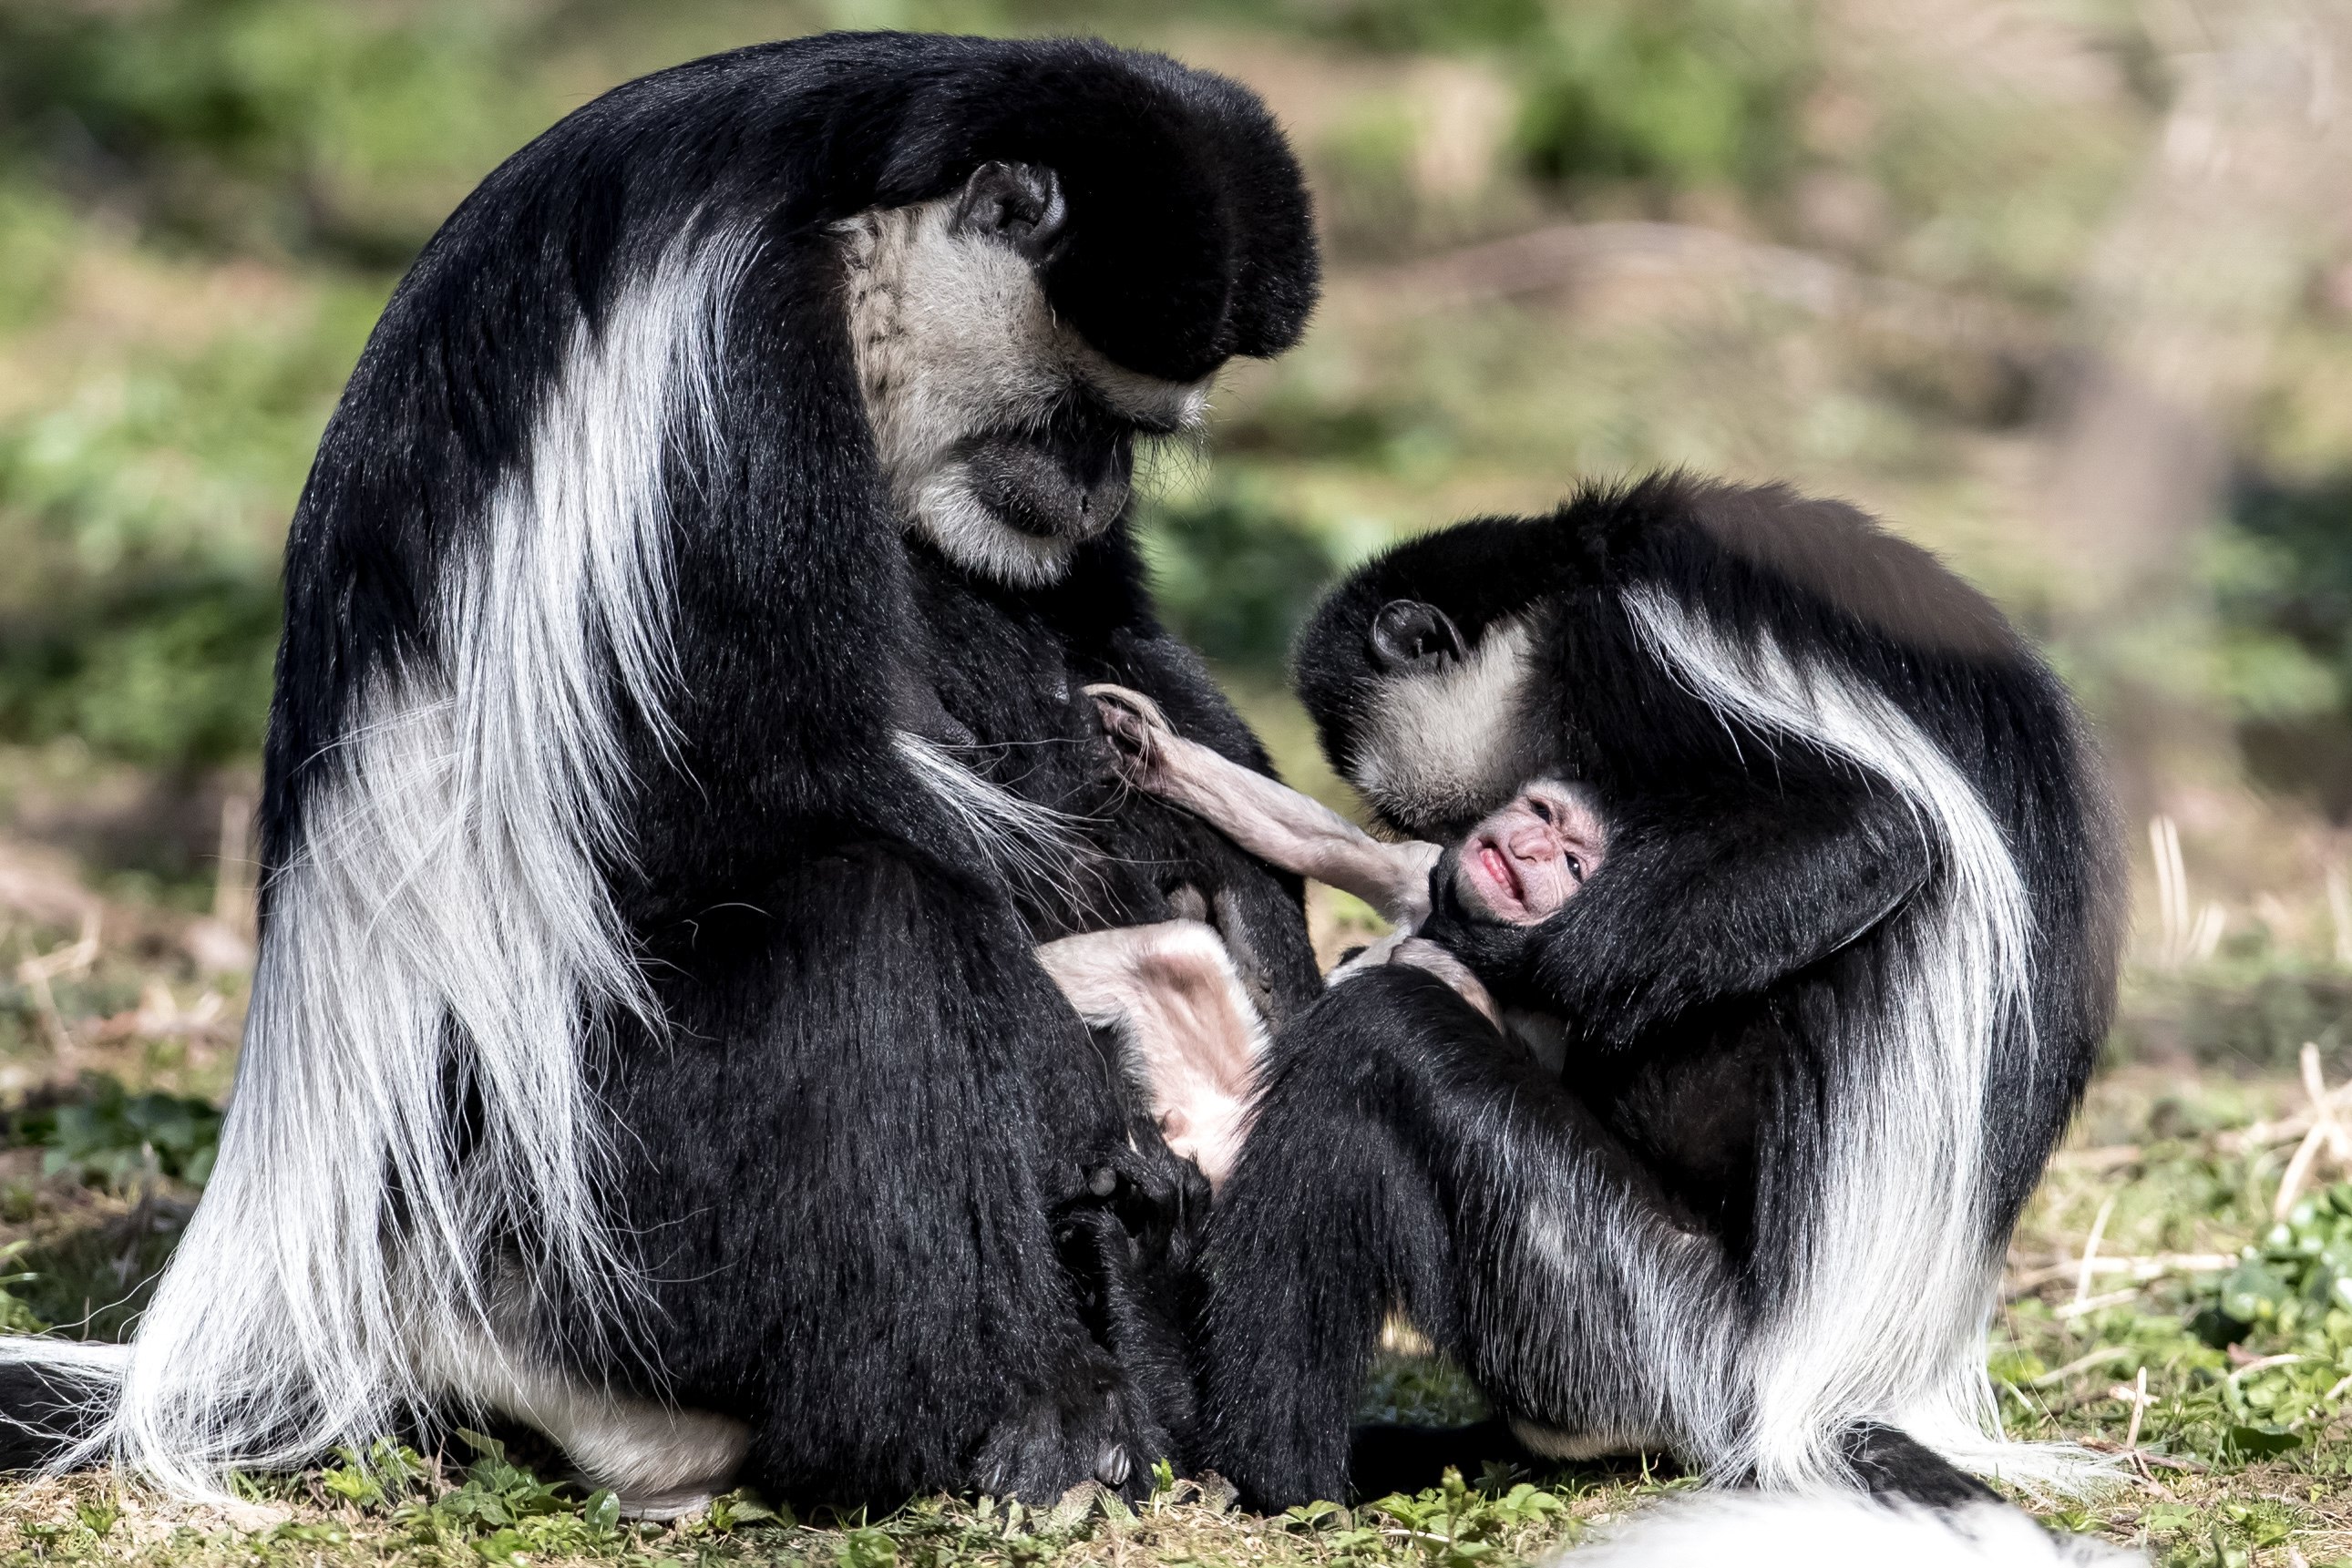
<svg viewBox="0 0 2352 1568">
<path fill-rule="evenodd" d="M 2002 827 L 1973 785 L 1884 693 L 1731 642 L 1658 590 L 1625 609 L 1677 679 L 1724 715 L 1788 733 L 1898 790 L 1936 853 L 1907 914 L 1907 961 L 1884 976 L 1879 1039 L 1842 1051 L 1835 1140 L 1797 1279 L 1771 1307 L 1748 1373 L 1743 1450 L 1764 1486 L 1842 1479 L 1835 1434 L 1900 1425 L 1959 1465 L 2063 1483 L 2091 1455 L 2002 1441 L 1983 1371 L 1999 1255 L 1983 1225 L 1985 1070 L 2002 1030 L 2030 1030 L 2032 912 Z"/>
</svg>

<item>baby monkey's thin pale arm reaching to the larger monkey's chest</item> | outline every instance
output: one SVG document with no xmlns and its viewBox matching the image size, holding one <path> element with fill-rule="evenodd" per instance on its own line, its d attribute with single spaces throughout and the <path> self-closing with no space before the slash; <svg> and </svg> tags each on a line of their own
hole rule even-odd
<svg viewBox="0 0 2352 1568">
<path fill-rule="evenodd" d="M 1261 860 L 1355 893 L 1399 926 L 1428 917 L 1437 844 L 1381 844 L 1322 802 L 1185 741 L 1138 691 L 1087 686 L 1087 696 L 1138 790 L 1192 811 Z"/>
</svg>

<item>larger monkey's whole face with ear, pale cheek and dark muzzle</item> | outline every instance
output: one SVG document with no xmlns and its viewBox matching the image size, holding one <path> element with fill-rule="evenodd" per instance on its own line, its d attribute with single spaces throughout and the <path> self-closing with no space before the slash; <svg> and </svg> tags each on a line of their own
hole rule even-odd
<svg viewBox="0 0 2352 1568">
<path fill-rule="evenodd" d="M 891 505 L 967 571 L 1051 583 L 1127 510 L 1136 435 L 1197 425 L 1209 383 L 1112 364 L 1056 317 L 1042 266 L 1068 205 L 1051 169 L 981 165 L 950 197 L 844 230 Z"/>
</svg>

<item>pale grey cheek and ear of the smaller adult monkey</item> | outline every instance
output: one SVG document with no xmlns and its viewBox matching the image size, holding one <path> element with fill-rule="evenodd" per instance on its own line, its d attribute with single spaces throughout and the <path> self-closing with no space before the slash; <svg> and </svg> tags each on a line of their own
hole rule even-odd
<svg viewBox="0 0 2352 1568">
<path fill-rule="evenodd" d="M 1435 604 L 1392 599 L 1364 642 L 1345 773 L 1383 818 L 1454 839 L 1543 771 L 1529 621 L 1494 621 L 1468 642 Z"/>
</svg>

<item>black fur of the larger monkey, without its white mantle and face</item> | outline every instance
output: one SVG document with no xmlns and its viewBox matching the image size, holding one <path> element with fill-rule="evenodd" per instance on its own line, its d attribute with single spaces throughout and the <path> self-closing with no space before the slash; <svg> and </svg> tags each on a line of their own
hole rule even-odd
<svg viewBox="0 0 2352 1568">
<path fill-rule="evenodd" d="M 1075 40 L 741 49 L 614 89 L 456 209 L 369 339 L 287 543 L 263 971 L 301 936 L 289 922 L 315 919 L 282 886 L 341 853 L 348 827 L 322 802 L 379 783 L 348 773 L 362 731 L 454 679 L 452 616 L 506 614 L 496 574 L 515 567 L 485 559 L 487 515 L 532 473 L 581 343 L 670 259 L 736 247 L 739 273 L 713 292 L 710 395 L 652 411 L 675 416 L 659 494 L 626 498 L 659 508 L 666 555 L 659 722 L 619 696 L 619 632 L 595 621 L 637 611 L 579 607 L 602 661 L 586 679 L 612 689 L 626 752 L 600 802 L 621 844 L 597 875 L 659 1020 L 583 999 L 597 1018 L 579 1025 L 579 1070 L 614 1150 L 604 1218 L 642 1288 L 607 1309 L 572 1300 L 576 1279 L 534 1274 L 539 1215 L 508 1194 L 487 1201 L 510 1255 L 485 1267 L 520 1274 L 524 1366 L 746 1422 L 743 1479 L 776 1497 L 1058 1497 L 1087 1476 L 1148 1486 L 1155 1460 L 1181 1458 L 1192 1385 L 1169 1276 L 1204 1187 L 1030 947 L 1169 919 L 1171 896 L 1197 893 L 1277 1016 L 1317 987 L 1296 879 L 1115 783 L 1087 682 L 1148 691 L 1185 733 L 1265 766 L 1152 618 L 1124 520 L 1056 583 L 1016 590 L 950 564 L 891 508 L 840 226 L 953 195 L 990 165 L 1014 169 L 1007 188 L 1040 169 L 1056 181 L 1063 228 L 1023 256 L 1054 315 L 1129 371 L 1192 381 L 1279 353 L 1315 303 L 1298 167 L 1235 82 Z M 668 303 L 652 287 L 652 308 Z M 515 665 L 510 679 L 553 677 Z M 1065 813 L 1070 886 L 997 870 L 903 736 Z M 445 1079 L 466 1161 L 485 1138 L 482 1079 L 454 1025 Z M 252 1088 L 240 1079 L 240 1100 Z M 390 1246 L 414 1213 L 386 1182 Z M 235 1260 L 174 1267 L 200 1265 Z M 287 1420 L 315 1403 L 301 1387 L 256 1401 Z M 165 1458 L 219 1462 L 200 1441 Z"/>
</svg>

